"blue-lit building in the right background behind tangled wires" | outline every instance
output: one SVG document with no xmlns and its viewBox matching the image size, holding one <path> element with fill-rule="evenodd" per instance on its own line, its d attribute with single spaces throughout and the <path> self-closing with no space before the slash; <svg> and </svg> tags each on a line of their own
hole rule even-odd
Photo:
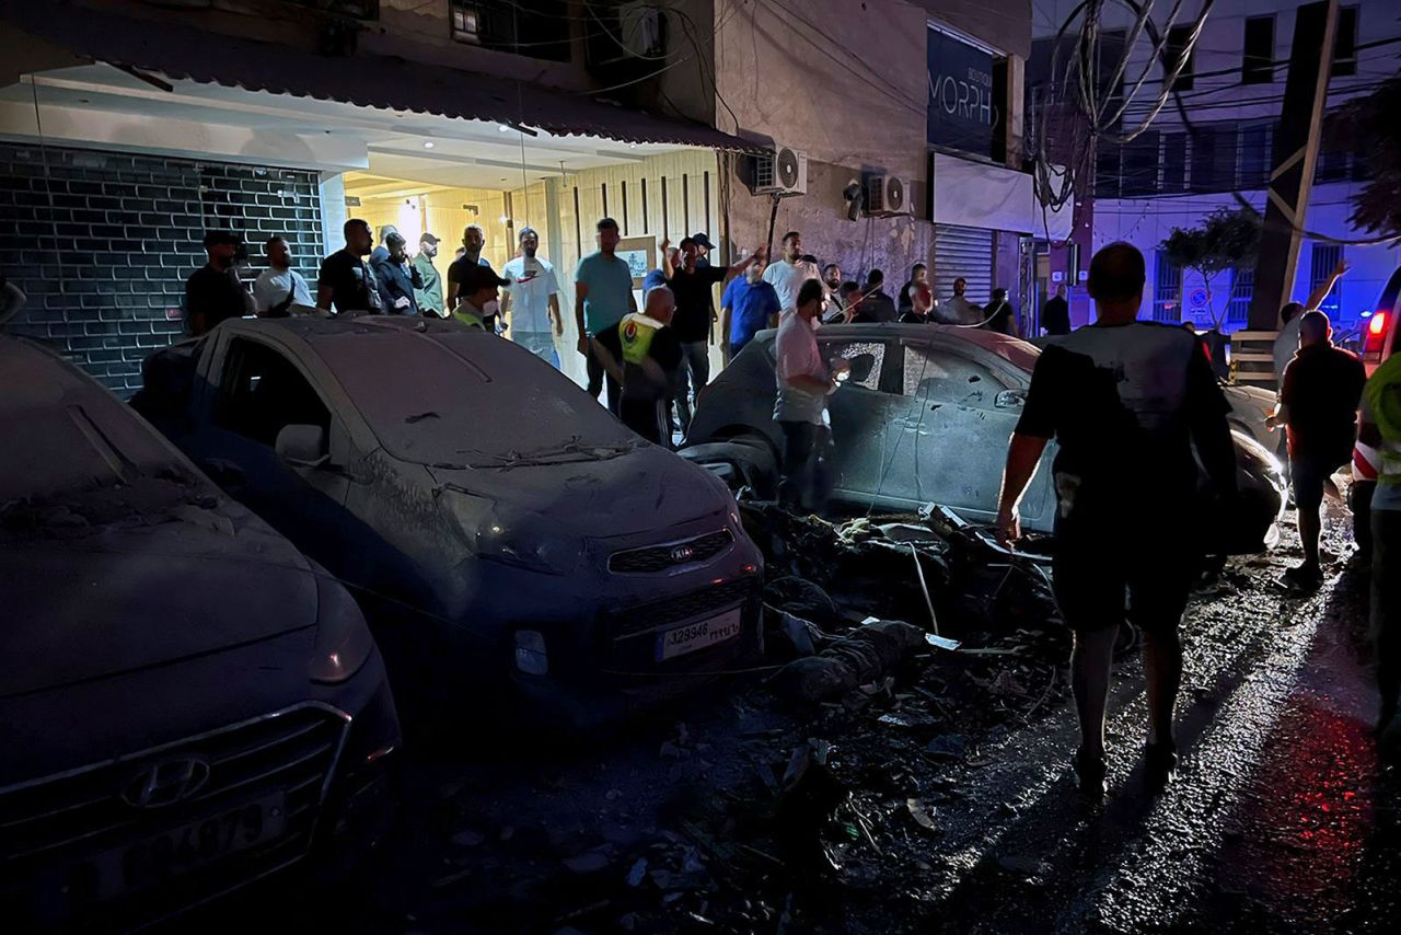
<svg viewBox="0 0 1401 935">
<path fill-rule="evenodd" d="M 1126 240 L 1143 251 L 1149 266 L 1145 317 L 1192 321 L 1203 329 L 1245 327 L 1254 269 L 1226 271 L 1203 280 L 1191 269 L 1177 268 L 1163 241 L 1177 227 L 1199 226 L 1217 209 L 1250 205 L 1264 212 L 1297 6 L 1283 0 L 1216 4 L 1178 74 L 1175 94 L 1147 132 L 1124 146 L 1101 140 L 1097 149 L 1093 182 L 1082 192 L 1090 233 L 1084 247 L 1094 250 Z M 1051 36 L 1073 10 L 1073 4 L 1061 1 L 1048 7 L 1048 15 L 1037 21 L 1033 53 L 1037 63 L 1048 60 Z M 1168 62 L 1184 48 L 1199 7 L 1199 3 L 1184 4 L 1177 25 L 1163 32 Z M 1131 22 L 1117 7 L 1105 17 L 1110 41 L 1118 36 L 1122 42 Z M 1328 111 L 1395 74 L 1401 49 L 1395 6 L 1386 0 L 1339 4 L 1337 31 Z M 1161 88 L 1164 64 L 1149 57 L 1146 39 L 1128 55 L 1124 81 L 1132 83 L 1145 69 L 1149 79 L 1140 100 L 1124 115 L 1125 128 L 1146 116 Z M 1115 90 L 1122 93 L 1122 84 Z M 1367 240 L 1348 220 L 1352 198 L 1366 178 L 1365 163 L 1332 146 L 1325 132 L 1309 209 L 1300 223 L 1306 237 L 1290 294 L 1302 301 L 1339 261 L 1346 261 L 1349 272 L 1323 306 L 1341 334 L 1355 332 L 1366 321 L 1398 262 L 1395 251 L 1384 244 L 1338 243 Z M 1077 231 L 1080 226 L 1077 220 Z M 1082 300 L 1076 317 L 1084 321 L 1089 315 L 1089 301 Z"/>
</svg>

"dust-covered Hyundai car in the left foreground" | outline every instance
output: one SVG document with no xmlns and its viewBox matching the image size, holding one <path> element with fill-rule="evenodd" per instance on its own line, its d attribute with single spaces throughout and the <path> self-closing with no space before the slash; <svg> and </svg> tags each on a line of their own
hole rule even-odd
<svg viewBox="0 0 1401 935">
<path fill-rule="evenodd" d="M 373 838 L 399 723 L 346 589 L 57 355 L 0 336 L 0 373 L 7 927 L 143 925 Z"/>
</svg>

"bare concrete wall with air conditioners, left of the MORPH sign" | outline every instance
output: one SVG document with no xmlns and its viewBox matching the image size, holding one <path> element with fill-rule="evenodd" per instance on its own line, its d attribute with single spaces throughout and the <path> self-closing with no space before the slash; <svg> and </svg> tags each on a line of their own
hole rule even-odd
<svg viewBox="0 0 1401 935">
<path fill-rule="evenodd" d="M 929 221 L 852 221 L 841 193 L 863 171 L 885 171 L 913 179 L 915 205 L 923 203 L 929 14 L 899 0 L 813 0 L 793 15 L 782 6 L 716 0 L 716 122 L 808 154 L 807 195 L 779 203 L 775 250 L 783 231 L 800 230 L 807 252 L 848 275 L 878 266 L 898 287 L 901 271 L 929 261 Z M 771 206 L 736 184 L 734 237 L 764 240 Z"/>
</svg>

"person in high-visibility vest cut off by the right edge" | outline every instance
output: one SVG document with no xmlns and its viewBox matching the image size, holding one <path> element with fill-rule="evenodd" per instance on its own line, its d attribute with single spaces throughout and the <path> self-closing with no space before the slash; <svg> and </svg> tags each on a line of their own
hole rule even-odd
<svg viewBox="0 0 1401 935">
<path fill-rule="evenodd" d="M 1377 367 L 1362 391 L 1359 440 L 1377 450 L 1372 493 L 1372 634 L 1377 643 L 1381 715 L 1377 733 L 1395 718 L 1401 697 L 1401 355 Z"/>
</svg>

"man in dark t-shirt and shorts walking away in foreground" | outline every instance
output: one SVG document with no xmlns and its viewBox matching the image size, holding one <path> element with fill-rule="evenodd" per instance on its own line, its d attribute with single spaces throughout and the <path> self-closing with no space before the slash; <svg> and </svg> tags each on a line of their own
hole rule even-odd
<svg viewBox="0 0 1401 935">
<path fill-rule="evenodd" d="M 1206 352 L 1181 328 L 1136 321 L 1143 280 L 1143 255 L 1133 245 L 1110 244 L 1094 255 L 1089 289 L 1098 318 L 1037 359 L 998 506 L 998 534 L 1010 545 L 1020 535 L 1021 493 L 1054 437 L 1061 447 L 1052 465 L 1054 587 L 1075 632 L 1070 667 L 1082 735 L 1075 771 L 1091 796 L 1104 795 L 1104 708 L 1125 620 L 1143 632 L 1147 779 L 1160 788 L 1177 770 L 1177 628 L 1199 554 L 1194 443 L 1212 491 L 1224 496 L 1236 488 L 1230 407 Z M 1126 509 L 1145 498 L 1152 523 Z"/>
</svg>

